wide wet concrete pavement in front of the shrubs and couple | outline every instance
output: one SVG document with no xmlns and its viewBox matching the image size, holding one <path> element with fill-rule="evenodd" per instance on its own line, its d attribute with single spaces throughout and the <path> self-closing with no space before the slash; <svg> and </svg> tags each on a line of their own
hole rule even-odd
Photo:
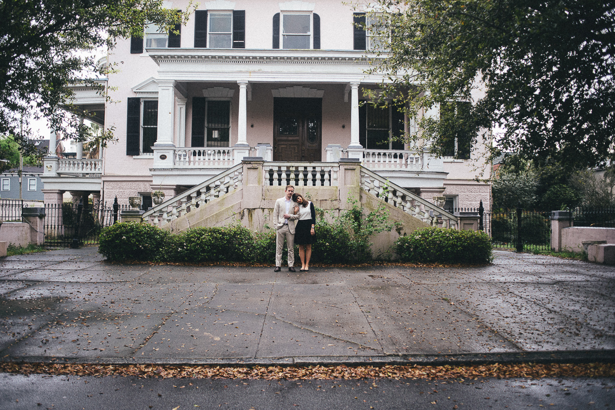
<svg viewBox="0 0 615 410">
<path fill-rule="evenodd" d="M 0 260 L 2 361 L 450 363 L 613 360 L 613 267 L 496 252 L 480 268 Z"/>
</svg>

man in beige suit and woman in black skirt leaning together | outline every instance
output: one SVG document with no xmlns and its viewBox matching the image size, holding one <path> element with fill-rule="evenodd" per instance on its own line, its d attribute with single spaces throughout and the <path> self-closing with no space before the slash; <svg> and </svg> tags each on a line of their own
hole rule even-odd
<svg viewBox="0 0 615 410">
<path fill-rule="evenodd" d="M 276 221 L 276 269 L 274 272 L 282 270 L 284 239 L 288 247 L 288 270 L 295 272 L 295 244 L 298 244 L 301 258 L 301 269 L 299 270 L 308 271 L 316 223 L 314 204 L 303 198 L 300 193 L 295 193 L 293 185 L 287 185 L 284 193 L 284 198 L 277 199 L 273 210 L 273 220 Z M 295 220 L 298 220 L 296 226 Z"/>
</svg>

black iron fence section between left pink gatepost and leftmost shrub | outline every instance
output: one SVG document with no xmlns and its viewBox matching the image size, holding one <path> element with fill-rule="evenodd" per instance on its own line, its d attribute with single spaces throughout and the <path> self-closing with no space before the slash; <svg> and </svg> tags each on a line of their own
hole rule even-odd
<svg viewBox="0 0 615 410">
<path fill-rule="evenodd" d="M 130 206 L 120 206 L 117 201 L 112 206 L 100 203 L 94 206 L 82 203 L 45 204 L 43 246 L 61 248 L 97 245 L 102 228 L 119 220 L 119 213 L 124 209 L 130 209 Z"/>
</svg>

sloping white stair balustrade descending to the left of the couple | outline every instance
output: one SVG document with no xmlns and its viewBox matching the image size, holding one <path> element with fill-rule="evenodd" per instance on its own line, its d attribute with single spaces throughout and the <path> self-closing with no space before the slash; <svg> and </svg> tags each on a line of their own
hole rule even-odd
<svg viewBox="0 0 615 410">
<path fill-rule="evenodd" d="M 236 190 L 242 186 L 243 167 L 244 164 L 239 163 L 180 195 L 167 199 L 143 213 L 143 220 L 159 226 Z"/>
</svg>

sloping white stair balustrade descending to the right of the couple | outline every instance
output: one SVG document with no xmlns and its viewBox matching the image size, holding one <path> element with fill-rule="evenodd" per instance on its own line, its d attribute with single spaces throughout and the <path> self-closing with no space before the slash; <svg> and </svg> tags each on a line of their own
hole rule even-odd
<svg viewBox="0 0 615 410">
<path fill-rule="evenodd" d="M 437 225 L 442 222 L 443 228 L 456 228 L 457 217 L 450 212 L 432 204 L 426 199 L 405 190 L 397 184 L 393 184 L 365 167 L 360 171 L 361 188 L 369 193 L 378 196 L 383 201 L 415 218 L 423 220 L 430 225 Z"/>
</svg>

